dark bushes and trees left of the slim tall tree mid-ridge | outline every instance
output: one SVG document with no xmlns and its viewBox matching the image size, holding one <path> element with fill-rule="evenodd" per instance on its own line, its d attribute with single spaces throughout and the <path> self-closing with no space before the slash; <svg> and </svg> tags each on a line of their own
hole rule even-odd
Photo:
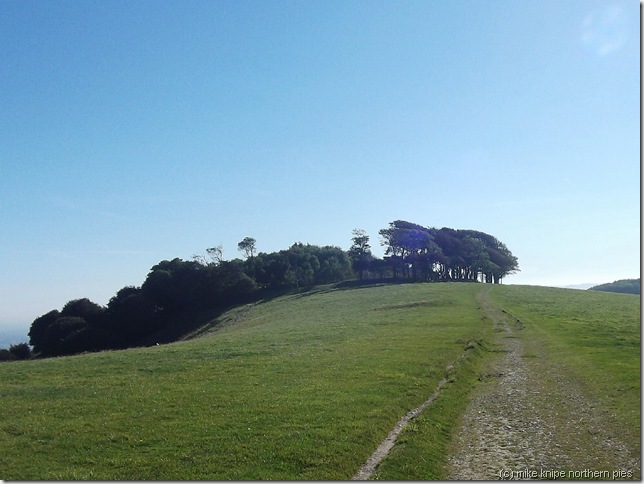
<svg viewBox="0 0 644 484">
<path fill-rule="evenodd" d="M 338 247 L 297 243 L 255 255 L 254 240 L 242 242 L 245 261 L 223 260 L 221 247 L 190 261 L 164 260 L 140 287 L 120 289 L 106 307 L 75 299 L 36 318 L 29 330 L 34 353 L 51 357 L 169 342 L 192 329 L 200 312 L 248 302 L 258 289 L 299 289 L 353 275 L 348 255 Z"/>
</svg>

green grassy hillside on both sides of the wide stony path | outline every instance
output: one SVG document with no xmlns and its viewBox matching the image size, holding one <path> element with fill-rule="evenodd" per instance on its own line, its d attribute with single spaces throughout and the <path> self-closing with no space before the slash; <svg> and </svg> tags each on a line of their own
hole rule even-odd
<svg viewBox="0 0 644 484">
<path fill-rule="evenodd" d="M 0 478 L 346 480 L 454 365 L 424 413 L 431 426 L 407 437 L 422 451 L 416 471 L 441 478 L 494 354 L 482 293 L 639 435 L 637 297 L 325 286 L 236 308 L 170 345 L 0 365 Z M 408 457 L 403 449 L 392 460 Z"/>
</svg>

